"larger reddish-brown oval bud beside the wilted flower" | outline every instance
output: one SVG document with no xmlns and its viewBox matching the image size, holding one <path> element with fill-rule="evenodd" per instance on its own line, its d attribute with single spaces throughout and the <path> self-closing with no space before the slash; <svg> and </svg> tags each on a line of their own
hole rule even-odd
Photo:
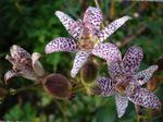
<svg viewBox="0 0 163 122">
<path fill-rule="evenodd" d="M 61 74 L 49 74 L 46 76 L 43 87 L 46 91 L 57 99 L 72 97 L 72 85 L 70 81 Z"/>
</svg>

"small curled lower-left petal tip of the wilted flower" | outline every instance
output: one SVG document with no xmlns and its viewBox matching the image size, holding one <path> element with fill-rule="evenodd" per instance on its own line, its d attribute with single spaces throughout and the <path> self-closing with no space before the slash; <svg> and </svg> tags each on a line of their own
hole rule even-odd
<svg viewBox="0 0 163 122">
<path fill-rule="evenodd" d="M 13 70 L 8 71 L 4 74 L 4 81 L 8 82 L 10 78 L 14 77 L 14 76 L 18 76 L 20 74 Z"/>
</svg>

